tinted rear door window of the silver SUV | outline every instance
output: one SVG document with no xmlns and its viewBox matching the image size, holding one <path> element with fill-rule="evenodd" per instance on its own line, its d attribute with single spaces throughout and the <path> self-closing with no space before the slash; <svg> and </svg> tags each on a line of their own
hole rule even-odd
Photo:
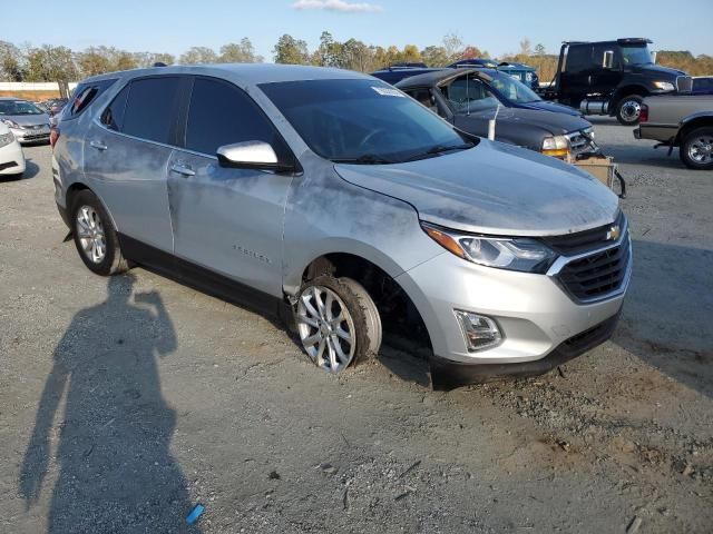
<svg viewBox="0 0 713 534">
<path fill-rule="evenodd" d="M 172 126 L 178 98 L 176 77 L 135 80 L 129 95 L 120 131 L 158 142 L 170 142 Z"/>
</svg>

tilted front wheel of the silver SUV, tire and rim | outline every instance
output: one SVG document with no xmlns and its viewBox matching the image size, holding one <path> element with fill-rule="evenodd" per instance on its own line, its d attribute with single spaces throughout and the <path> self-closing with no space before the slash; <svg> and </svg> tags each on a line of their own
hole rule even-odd
<svg viewBox="0 0 713 534">
<path fill-rule="evenodd" d="M 361 284 L 351 278 L 320 275 L 300 291 L 297 334 L 310 359 L 329 373 L 379 352 L 381 318 Z"/>
</svg>

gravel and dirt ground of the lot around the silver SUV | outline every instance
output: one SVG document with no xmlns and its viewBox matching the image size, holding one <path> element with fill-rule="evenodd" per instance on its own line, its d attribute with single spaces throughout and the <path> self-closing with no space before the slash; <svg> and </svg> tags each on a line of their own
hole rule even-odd
<svg viewBox="0 0 713 534">
<path fill-rule="evenodd" d="M 0 532 L 711 532 L 713 174 L 594 121 L 629 184 L 614 338 L 449 393 L 393 348 L 338 379 L 261 316 L 92 275 L 27 148 L 0 181 Z"/>
</svg>

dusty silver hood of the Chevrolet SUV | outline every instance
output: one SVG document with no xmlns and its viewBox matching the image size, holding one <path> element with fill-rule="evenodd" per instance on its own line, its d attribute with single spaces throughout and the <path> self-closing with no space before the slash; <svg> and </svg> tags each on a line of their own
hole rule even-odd
<svg viewBox="0 0 713 534">
<path fill-rule="evenodd" d="M 559 236 L 615 220 L 618 198 L 558 159 L 482 139 L 459 152 L 393 165 L 344 165 L 344 180 L 413 206 L 421 220 L 467 233 Z"/>
</svg>

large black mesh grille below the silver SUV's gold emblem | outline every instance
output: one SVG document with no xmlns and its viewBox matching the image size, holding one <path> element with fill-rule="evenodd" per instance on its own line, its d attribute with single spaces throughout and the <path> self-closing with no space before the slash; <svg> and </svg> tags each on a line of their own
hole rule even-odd
<svg viewBox="0 0 713 534">
<path fill-rule="evenodd" d="M 578 300 L 605 298 L 624 285 L 631 254 L 627 231 L 617 246 L 566 264 L 559 281 Z"/>
</svg>

